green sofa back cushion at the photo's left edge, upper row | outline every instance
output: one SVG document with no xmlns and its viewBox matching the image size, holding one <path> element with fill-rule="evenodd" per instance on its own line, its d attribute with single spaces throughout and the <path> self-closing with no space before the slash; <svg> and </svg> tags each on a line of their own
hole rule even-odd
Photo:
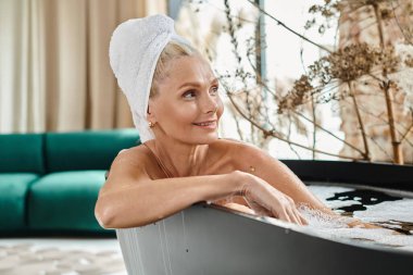
<svg viewBox="0 0 413 275">
<path fill-rule="evenodd" d="M 42 134 L 0 135 L 0 173 L 45 171 Z"/>
</svg>

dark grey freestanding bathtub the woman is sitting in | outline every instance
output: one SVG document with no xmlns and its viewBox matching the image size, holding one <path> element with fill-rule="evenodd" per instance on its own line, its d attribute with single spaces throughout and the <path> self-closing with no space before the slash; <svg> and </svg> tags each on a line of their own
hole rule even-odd
<svg viewBox="0 0 413 275">
<path fill-rule="evenodd" d="M 301 179 L 413 190 L 413 168 L 353 162 L 285 161 Z M 413 211 L 413 210 L 412 210 Z M 197 203 L 167 218 L 116 229 L 129 275 L 410 274 L 413 252 Z"/>
</svg>

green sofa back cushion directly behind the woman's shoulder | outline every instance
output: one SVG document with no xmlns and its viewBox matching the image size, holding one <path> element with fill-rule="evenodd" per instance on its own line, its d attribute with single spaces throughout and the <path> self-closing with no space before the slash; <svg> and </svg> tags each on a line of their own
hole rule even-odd
<svg viewBox="0 0 413 275">
<path fill-rule="evenodd" d="M 139 143 L 136 129 L 47 133 L 47 171 L 108 170 L 118 151 Z"/>
</svg>

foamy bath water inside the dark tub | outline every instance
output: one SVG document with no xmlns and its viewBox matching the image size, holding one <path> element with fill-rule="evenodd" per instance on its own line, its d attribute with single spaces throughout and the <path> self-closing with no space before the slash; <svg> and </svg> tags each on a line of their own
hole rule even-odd
<svg viewBox="0 0 413 275">
<path fill-rule="evenodd" d="M 350 238 L 413 251 L 413 193 L 371 187 L 343 187 L 309 184 L 310 190 L 340 218 L 300 207 L 308 229 L 327 238 Z M 361 220 L 381 228 L 350 228 L 347 223 Z"/>
</svg>

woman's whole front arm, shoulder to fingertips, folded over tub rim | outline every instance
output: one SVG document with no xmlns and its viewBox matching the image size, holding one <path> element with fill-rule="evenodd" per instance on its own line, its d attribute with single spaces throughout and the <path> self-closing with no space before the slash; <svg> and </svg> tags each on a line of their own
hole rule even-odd
<svg viewBox="0 0 413 275">
<path fill-rule="evenodd" d="M 254 210 L 270 212 L 283 221 L 305 223 L 290 198 L 248 173 L 234 171 L 222 175 L 151 179 L 142 163 L 129 152 L 120 154 L 113 162 L 95 208 L 102 227 L 142 226 L 196 202 L 233 196 L 252 198 Z"/>
</svg>

